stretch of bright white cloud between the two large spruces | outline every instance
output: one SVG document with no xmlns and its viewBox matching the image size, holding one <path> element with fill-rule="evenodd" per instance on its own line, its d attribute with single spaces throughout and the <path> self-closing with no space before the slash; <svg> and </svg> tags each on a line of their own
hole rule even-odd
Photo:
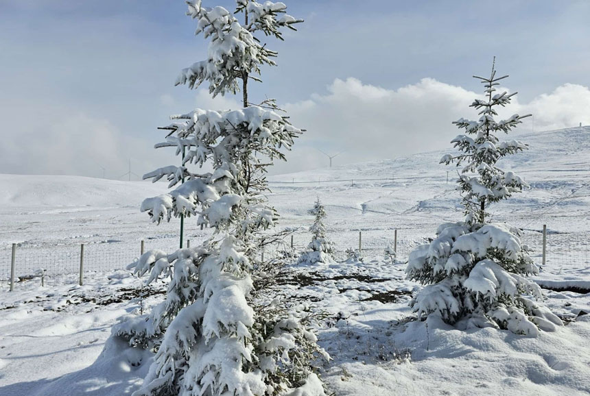
<svg viewBox="0 0 590 396">
<path fill-rule="evenodd" d="M 309 147 L 346 151 L 335 163 L 394 158 L 445 147 L 454 121 L 466 113 L 476 94 L 425 78 L 418 84 L 388 90 L 358 79 L 335 79 L 325 95 L 286 106 L 292 121 L 307 129 L 300 152 Z M 326 159 L 316 152 L 311 166 Z M 309 164 L 309 161 L 308 161 Z"/>
</svg>

